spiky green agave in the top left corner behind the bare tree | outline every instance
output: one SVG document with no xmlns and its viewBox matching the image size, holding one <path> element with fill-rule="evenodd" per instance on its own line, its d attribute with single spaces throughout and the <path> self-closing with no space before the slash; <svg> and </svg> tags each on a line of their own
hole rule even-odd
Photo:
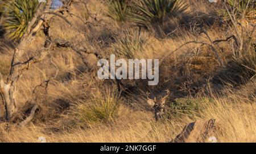
<svg viewBox="0 0 256 154">
<path fill-rule="evenodd" d="M 3 26 L 9 31 L 9 37 L 18 40 L 27 31 L 28 23 L 38 7 L 38 0 L 11 0 L 5 2 Z"/>
</svg>

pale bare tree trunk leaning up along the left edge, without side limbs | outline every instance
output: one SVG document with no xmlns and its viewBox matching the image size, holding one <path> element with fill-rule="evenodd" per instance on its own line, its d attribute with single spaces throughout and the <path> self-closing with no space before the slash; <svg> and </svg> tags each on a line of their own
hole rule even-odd
<svg viewBox="0 0 256 154">
<path fill-rule="evenodd" d="M 16 101 L 15 101 L 15 90 L 16 85 L 19 80 L 19 77 L 22 75 L 22 71 L 27 69 L 29 64 L 36 63 L 39 59 L 30 59 L 25 61 L 24 63 L 20 62 L 22 60 L 22 56 L 27 49 L 28 44 L 31 43 L 32 40 L 35 39 L 35 35 L 32 34 L 32 27 L 38 22 L 38 20 L 42 20 L 43 11 L 45 9 L 49 9 L 51 6 L 52 0 L 48 0 L 46 7 L 43 3 L 40 3 L 38 6 L 38 10 L 35 13 L 34 18 L 32 18 L 31 22 L 28 24 L 28 28 L 26 33 L 20 39 L 20 43 L 18 47 L 15 48 L 13 59 L 11 61 L 11 70 L 9 77 L 6 82 L 3 82 L 3 79 L 0 80 L 0 96 L 3 101 L 3 105 L 5 106 L 5 119 L 7 122 L 10 122 L 13 118 L 14 113 L 16 113 Z M 42 24 L 42 22 L 39 22 Z M 42 57 L 41 57 L 42 58 Z"/>
</svg>

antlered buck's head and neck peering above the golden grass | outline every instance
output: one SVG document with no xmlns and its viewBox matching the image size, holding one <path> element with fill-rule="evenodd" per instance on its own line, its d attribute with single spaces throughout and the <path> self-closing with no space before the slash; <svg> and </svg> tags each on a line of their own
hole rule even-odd
<svg viewBox="0 0 256 154">
<path fill-rule="evenodd" d="M 166 95 L 164 95 L 164 97 L 160 96 L 160 97 L 154 97 L 154 99 L 149 98 L 150 93 L 147 92 L 147 103 L 153 107 L 153 109 L 155 110 L 155 120 L 158 121 L 160 119 L 163 118 L 164 115 L 164 103 L 166 103 L 166 98 L 168 97 L 168 95 L 170 94 L 170 91 L 164 90 L 166 91 Z"/>
</svg>

